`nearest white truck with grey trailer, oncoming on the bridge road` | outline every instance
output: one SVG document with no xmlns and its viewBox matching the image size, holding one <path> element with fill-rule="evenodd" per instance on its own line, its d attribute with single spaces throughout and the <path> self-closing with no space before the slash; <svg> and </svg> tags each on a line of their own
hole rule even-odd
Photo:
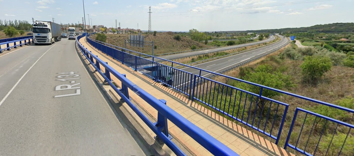
<svg viewBox="0 0 354 156">
<path fill-rule="evenodd" d="M 47 21 L 35 21 L 33 24 L 33 42 L 34 44 L 52 44 L 60 41 L 62 30 L 61 25 Z"/>
</svg>

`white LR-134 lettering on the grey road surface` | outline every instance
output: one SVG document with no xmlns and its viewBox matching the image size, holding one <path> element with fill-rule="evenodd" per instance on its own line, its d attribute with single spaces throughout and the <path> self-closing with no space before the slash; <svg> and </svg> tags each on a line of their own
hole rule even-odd
<svg viewBox="0 0 354 156">
<path fill-rule="evenodd" d="M 56 79 L 58 81 L 68 81 L 70 80 L 70 83 L 75 83 L 74 79 L 80 79 L 79 74 L 75 74 L 78 72 L 64 72 L 64 73 L 57 73 L 57 74 L 63 74 L 60 76 L 57 76 L 57 78 L 64 78 L 64 79 Z M 67 77 L 67 78 L 65 78 Z M 73 78 L 70 78 L 73 77 Z M 56 95 L 54 97 L 65 97 L 65 96 L 74 96 L 74 95 L 80 95 L 81 94 L 81 87 L 77 86 L 80 85 L 81 83 L 75 83 L 75 84 L 62 84 L 62 85 L 57 85 L 55 87 L 55 91 L 59 90 L 69 90 L 69 89 L 76 89 L 76 92 L 73 94 L 64 94 L 64 95 Z"/>
</svg>

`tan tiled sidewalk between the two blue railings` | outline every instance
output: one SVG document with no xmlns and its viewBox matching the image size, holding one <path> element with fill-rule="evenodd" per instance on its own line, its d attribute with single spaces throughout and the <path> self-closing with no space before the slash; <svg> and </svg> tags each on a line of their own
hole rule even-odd
<svg viewBox="0 0 354 156">
<path fill-rule="evenodd" d="M 211 136 L 218 139 L 220 142 L 227 145 L 230 149 L 234 150 L 241 156 L 293 156 L 283 148 L 278 147 L 274 143 L 269 142 L 257 134 L 243 128 L 244 125 L 237 125 L 236 123 L 219 116 L 203 106 L 190 101 L 188 98 L 181 94 L 172 91 L 165 86 L 154 82 L 150 78 L 140 74 L 131 68 L 122 65 L 120 62 L 110 58 L 109 56 L 99 52 L 96 48 L 93 48 L 89 43 L 85 41 L 85 38 L 81 38 L 79 41 L 84 47 L 86 47 L 93 54 L 98 55 L 100 59 L 108 62 L 116 71 L 122 74 L 126 74 L 126 77 L 133 83 L 138 84 L 140 88 L 149 92 L 151 95 L 158 99 L 164 99 L 167 101 L 167 106 L 187 118 L 196 126 L 202 128 Z M 104 57 L 105 56 L 105 57 Z M 103 67 L 101 67 L 102 70 Z M 121 82 L 111 76 L 112 80 L 116 84 Z M 142 108 L 157 119 L 157 111 L 141 99 L 138 95 L 130 90 L 130 97 L 136 101 Z M 168 122 L 170 134 L 184 144 L 197 156 L 210 156 L 209 151 L 204 149 L 195 140 L 182 132 L 177 126 Z"/>
</svg>

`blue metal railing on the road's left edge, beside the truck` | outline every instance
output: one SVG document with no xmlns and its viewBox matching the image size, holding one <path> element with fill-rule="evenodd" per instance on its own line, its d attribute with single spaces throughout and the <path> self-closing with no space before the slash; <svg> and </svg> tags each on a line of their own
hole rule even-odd
<svg viewBox="0 0 354 156">
<path fill-rule="evenodd" d="M 32 39 L 32 41 L 30 41 Z M 28 40 L 28 41 L 27 41 Z M 16 42 L 20 42 L 16 44 Z M 13 43 L 13 46 L 10 46 L 10 43 Z M 0 47 L 0 53 L 2 50 L 10 50 L 11 48 L 17 48 L 18 46 L 27 45 L 33 43 L 33 36 L 24 36 L 24 37 L 14 37 L 14 38 L 5 38 L 0 40 L 0 46 L 6 44 L 6 48 Z"/>
</svg>

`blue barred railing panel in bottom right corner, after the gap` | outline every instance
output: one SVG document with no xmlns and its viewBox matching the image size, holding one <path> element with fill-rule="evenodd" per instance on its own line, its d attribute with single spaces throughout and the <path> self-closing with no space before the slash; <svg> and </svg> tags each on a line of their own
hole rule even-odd
<svg viewBox="0 0 354 156">
<path fill-rule="evenodd" d="M 301 128 L 295 125 L 300 125 Z M 352 124 L 296 108 L 284 149 L 290 147 L 307 156 L 352 156 L 354 154 L 353 128 Z"/>
</svg>

